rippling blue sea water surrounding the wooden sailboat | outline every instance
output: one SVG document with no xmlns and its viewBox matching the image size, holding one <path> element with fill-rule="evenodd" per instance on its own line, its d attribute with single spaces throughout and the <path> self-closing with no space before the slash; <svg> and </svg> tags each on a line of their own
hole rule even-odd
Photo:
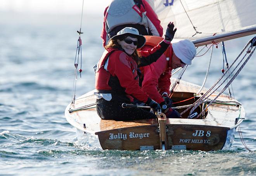
<svg viewBox="0 0 256 176">
<path fill-rule="evenodd" d="M 2 13 L 0 17 L 0 175 L 255 175 L 256 54 L 232 83 L 244 105 L 228 151 L 102 150 L 98 140 L 71 126 L 71 101 L 80 17 Z M 102 17 L 84 19 L 82 74 L 76 95 L 94 88 L 93 65 L 102 52 Z M 165 28 L 165 27 L 164 27 Z M 253 36 L 225 42 L 231 64 Z M 208 46 L 209 47 L 209 46 Z M 201 85 L 209 52 L 195 58 L 183 80 Z M 206 87 L 221 76 L 221 45 L 214 47 Z"/>
</svg>

